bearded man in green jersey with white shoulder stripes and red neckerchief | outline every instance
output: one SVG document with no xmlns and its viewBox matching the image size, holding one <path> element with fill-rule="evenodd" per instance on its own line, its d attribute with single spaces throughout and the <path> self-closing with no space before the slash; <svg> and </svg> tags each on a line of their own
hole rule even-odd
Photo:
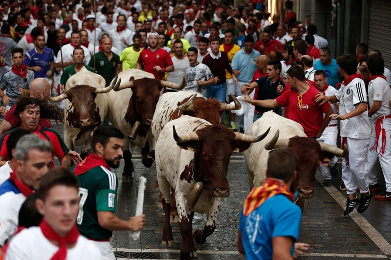
<svg viewBox="0 0 391 260">
<path fill-rule="evenodd" d="M 114 126 L 99 126 L 92 136 L 92 153 L 73 170 L 80 184 L 80 234 L 97 245 L 104 259 L 114 259 L 109 241 L 113 230 L 138 231 L 145 222 L 145 215 L 121 220 L 114 214 L 118 179 L 110 167 L 119 166 L 123 139 L 124 134 Z"/>
</svg>

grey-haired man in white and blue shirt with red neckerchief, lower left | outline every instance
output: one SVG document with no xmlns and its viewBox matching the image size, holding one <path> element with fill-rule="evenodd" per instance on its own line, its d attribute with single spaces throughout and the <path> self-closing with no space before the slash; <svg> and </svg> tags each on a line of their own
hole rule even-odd
<svg viewBox="0 0 391 260">
<path fill-rule="evenodd" d="M 16 145 L 15 160 L 10 179 L 0 185 L 0 248 L 17 230 L 23 201 L 38 189 L 41 177 L 50 169 L 52 145 L 37 135 L 23 136 Z M 38 164 L 43 167 L 32 166 Z"/>
</svg>

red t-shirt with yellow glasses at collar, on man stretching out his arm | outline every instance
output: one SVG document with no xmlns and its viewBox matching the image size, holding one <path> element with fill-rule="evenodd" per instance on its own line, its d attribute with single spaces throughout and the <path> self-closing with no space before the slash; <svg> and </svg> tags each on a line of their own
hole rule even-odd
<svg viewBox="0 0 391 260">
<path fill-rule="evenodd" d="M 309 86 L 307 92 L 302 95 L 300 108 L 298 107 L 299 93 L 294 89 L 285 91 L 276 99 L 280 106 L 289 108 L 289 119 L 300 123 L 307 137 L 316 136 L 323 122 L 323 113 L 326 113 L 330 108 L 328 102 L 323 105 L 319 105 L 320 102 L 315 102 L 316 95 L 318 95 L 318 90 Z"/>
</svg>

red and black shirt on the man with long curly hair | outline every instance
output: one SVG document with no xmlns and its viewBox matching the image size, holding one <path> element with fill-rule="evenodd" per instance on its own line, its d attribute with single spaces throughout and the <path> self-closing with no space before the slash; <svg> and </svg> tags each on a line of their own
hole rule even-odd
<svg viewBox="0 0 391 260">
<path fill-rule="evenodd" d="M 14 128 L 8 132 L 6 132 L 4 135 L 0 138 L 0 156 L 2 156 L 6 161 L 10 160 L 8 150 L 7 150 L 7 140 L 9 135 L 16 131 L 19 128 Z M 60 135 L 51 129 L 38 126 L 38 129 L 34 132 L 31 132 L 35 135 L 38 135 L 43 140 L 50 141 L 50 143 L 53 146 L 53 155 L 52 155 L 52 169 L 54 168 L 54 155 L 57 156 L 57 158 L 62 158 L 65 155 L 69 153 L 68 147 L 66 147 L 64 141 L 61 139 Z"/>
</svg>

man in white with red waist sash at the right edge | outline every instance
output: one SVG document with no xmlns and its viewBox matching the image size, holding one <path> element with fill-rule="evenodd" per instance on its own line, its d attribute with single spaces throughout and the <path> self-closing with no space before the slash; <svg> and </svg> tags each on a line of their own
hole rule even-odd
<svg viewBox="0 0 391 260">
<path fill-rule="evenodd" d="M 368 151 L 369 180 L 375 180 L 372 169 L 380 165 L 386 181 L 386 191 L 376 195 L 376 200 L 391 200 L 391 89 L 384 77 L 384 60 L 380 55 L 372 54 L 367 60 L 369 74 L 371 76 L 368 86 L 369 110 L 368 114 L 373 119 L 372 136 Z M 373 171 L 376 174 L 376 171 Z M 374 182 L 375 182 L 374 181 Z M 376 184 L 370 183 L 369 185 Z"/>
</svg>

